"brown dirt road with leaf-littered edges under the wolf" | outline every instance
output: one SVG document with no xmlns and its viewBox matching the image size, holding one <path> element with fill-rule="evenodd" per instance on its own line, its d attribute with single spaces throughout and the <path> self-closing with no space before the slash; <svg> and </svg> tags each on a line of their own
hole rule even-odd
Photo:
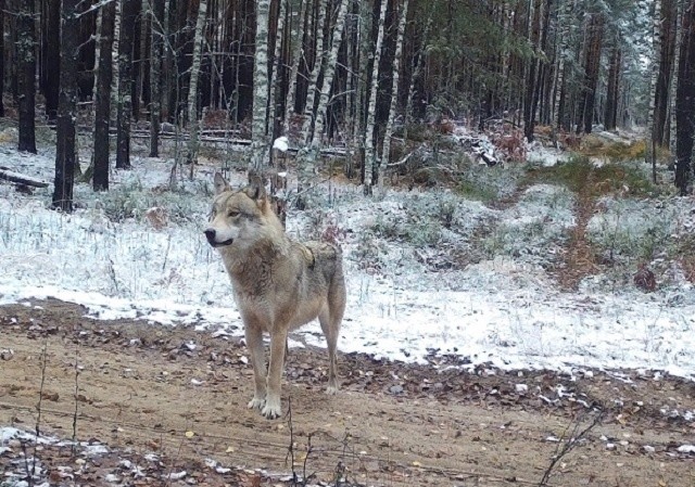
<svg viewBox="0 0 695 487">
<path fill-rule="evenodd" d="M 341 355 L 342 390 L 330 397 L 325 350 L 292 349 L 282 388 L 291 422 L 267 421 L 247 409 L 251 367 L 238 339 L 83 313 L 55 300 L 0 307 L 0 426 L 34 430 L 41 394 L 42 432 L 71 438 L 76 419 L 77 439 L 105 445 L 121 462 L 154 452 L 160 474 L 186 466 L 188 477 L 169 485 L 277 485 L 292 470 L 329 485 L 336 472 L 342 485 L 538 485 L 599 406 L 598 424 L 548 485 L 695 485 L 695 454 L 679 451 L 695 444 L 695 386 L 677 377 L 460 372 L 454 358 L 425 367 Z M 16 456 L 0 454 L 0 469 Z M 232 471 L 206 469 L 206 459 Z M 49 472 L 70 461 L 64 451 L 45 459 Z M 80 485 L 116 485 L 106 466 L 117 465 L 90 462 Z M 122 485 L 164 485 L 147 472 L 128 483 L 119 469 Z M 73 478 L 55 485 L 79 484 Z"/>
</svg>

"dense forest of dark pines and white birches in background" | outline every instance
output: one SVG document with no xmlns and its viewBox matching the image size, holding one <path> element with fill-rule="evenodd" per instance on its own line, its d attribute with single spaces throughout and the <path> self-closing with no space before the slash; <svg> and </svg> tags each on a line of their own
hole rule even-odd
<svg viewBox="0 0 695 487">
<path fill-rule="evenodd" d="M 18 149 L 56 127 L 54 205 L 70 209 L 75 131 L 93 136 L 89 179 L 109 188 L 130 137 L 163 132 L 194 164 L 202 130 L 245 140 L 267 172 L 273 141 L 296 151 L 298 190 L 326 148 L 366 194 L 413 143 L 465 120 L 577 145 L 595 127 L 642 128 L 644 157 L 672 154 L 687 194 L 695 2 L 683 0 L 3 0 L 3 104 Z M 91 139 L 92 137 L 90 137 Z M 85 157 L 85 156 L 84 156 Z M 673 164 L 675 163 L 675 164 Z M 267 177 L 267 174 L 266 174 Z"/>
</svg>

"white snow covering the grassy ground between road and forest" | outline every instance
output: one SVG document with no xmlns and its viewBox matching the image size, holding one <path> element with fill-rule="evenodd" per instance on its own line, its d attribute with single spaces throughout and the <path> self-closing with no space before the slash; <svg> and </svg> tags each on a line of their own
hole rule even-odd
<svg viewBox="0 0 695 487">
<path fill-rule="evenodd" d="M 0 152 L 12 170 L 52 180 L 50 151 L 28 156 L 4 145 Z M 30 306 L 30 298 L 55 297 L 86 306 L 96 319 L 184 322 L 241 335 L 228 278 L 201 233 L 212 168 L 202 166 L 199 182 L 180 194 L 151 191 L 166 184 L 168 175 L 161 159 L 136 159 L 134 170 L 114 174 L 110 193 L 94 195 L 78 185 L 73 215 L 47 209 L 50 188 L 26 196 L 0 184 L 0 304 Z M 232 179 L 240 183 L 243 175 Z M 389 191 L 366 201 L 359 189 L 336 189 L 332 206 L 290 215 L 288 230 L 307 238 L 327 221 L 350 230 L 343 242 L 349 305 L 342 351 L 418 362 L 454 354 L 471 364 L 508 369 L 635 368 L 695 376 L 695 299 L 687 284 L 652 294 L 591 285 L 565 293 L 543 270 L 543 253 L 556 252 L 555 241 L 573 225 L 565 190 L 532 187 L 507 209 L 455 201 L 463 233 L 470 226 L 476 239 L 473 226 L 494 220 L 504 235 L 484 236 L 492 248 L 486 258 L 434 272 L 418 264 L 416 247 L 369 229 L 384 218 L 405 218 L 414 204 L 453 196 Z M 159 205 L 168 208 L 169 223 L 155 230 L 141 213 Z M 521 239 L 529 229 L 532 234 Z M 376 270 L 365 265 L 365 245 L 379 248 Z M 681 296 L 678 306 L 674 295 Z M 324 346 L 317 323 L 295 338 Z"/>
</svg>

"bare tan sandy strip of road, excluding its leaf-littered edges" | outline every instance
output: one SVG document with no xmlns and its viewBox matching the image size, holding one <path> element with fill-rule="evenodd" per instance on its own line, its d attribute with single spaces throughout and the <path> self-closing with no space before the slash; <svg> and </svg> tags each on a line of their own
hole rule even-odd
<svg viewBox="0 0 695 487">
<path fill-rule="evenodd" d="M 182 328 L 93 322 L 80 318 L 75 307 L 41 306 L 43 310 L 0 308 L 0 313 L 16 317 L 16 322 L 0 320 L 0 348 L 14 350 L 11 360 L 0 362 L 1 424 L 33 427 L 40 349 L 48 337 L 42 407 L 48 430 L 72 435 L 77 356 L 81 367 L 78 437 L 141 451 L 165 451 L 181 459 L 212 457 L 233 465 L 291 470 L 286 463 L 290 444 L 287 421 L 266 421 L 245 407 L 252 395 L 251 369 L 240 360 L 244 349 L 239 343 Z M 90 339 L 81 341 L 83 336 Z M 191 354 L 185 348 L 173 354 L 167 345 L 191 339 L 199 347 Z M 142 345 L 123 346 L 132 341 Z M 212 354 L 224 356 L 226 361 L 212 360 Z M 559 437 L 571 421 L 561 411 L 491 406 L 485 400 L 456 403 L 393 396 L 350 380 L 345 380 L 343 392 L 329 397 L 323 394 L 324 355 L 325 350 L 292 351 L 288 370 L 307 368 L 316 375 L 286 380 L 282 399 L 287 410 L 291 397 L 298 471 L 311 436 L 307 470 L 327 480 L 342 462 L 349 478 L 375 485 L 534 483 L 557 445 L 546 438 Z M 348 357 L 341 357 L 341 362 L 343 373 L 355 367 Z M 191 380 L 201 381 L 201 385 Z M 431 380 L 439 380 L 435 371 Z M 194 436 L 187 438 L 186 432 Z M 649 430 L 644 424 L 602 425 L 601 432 L 568 457 L 553 485 L 643 485 L 639 482 L 647 473 L 656 475 L 657 483 L 686 485 L 682 484 L 690 478 L 686 461 L 666 454 L 609 452 L 599 434 L 616 438 L 630 435 L 653 446 L 668 445 L 680 436 L 675 431 Z"/>
</svg>

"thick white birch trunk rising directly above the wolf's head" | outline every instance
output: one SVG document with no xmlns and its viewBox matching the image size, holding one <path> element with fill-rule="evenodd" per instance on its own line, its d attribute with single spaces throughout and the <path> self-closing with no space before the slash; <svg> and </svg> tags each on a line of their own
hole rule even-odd
<svg viewBox="0 0 695 487">
<path fill-rule="evenodd" d="M 251 164 L 249 169 L 263 174 L 268 166 L 268 21 L 270 0 L 256 1 L 255 61 L 253 64 L 253 125 L 251 128 Z"/>
</svg>

